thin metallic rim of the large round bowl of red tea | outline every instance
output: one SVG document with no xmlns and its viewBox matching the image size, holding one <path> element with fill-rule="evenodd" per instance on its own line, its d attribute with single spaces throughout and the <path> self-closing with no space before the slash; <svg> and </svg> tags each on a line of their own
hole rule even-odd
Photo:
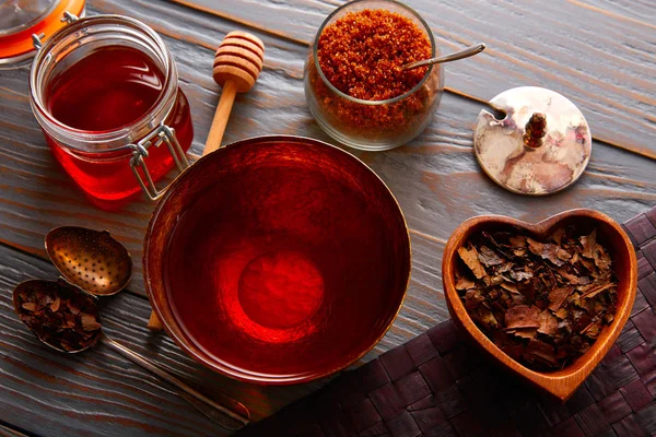
<svg viewBox="0 0 656 437">
<path fill-rule="evenodd" d="M 249 144 L 254 144 L 254 143 L 265 144 L 265 143 L 270 143 L 270 142 L 274 142 L 274 143 L 276 142 L 291 142 L 291 143 L 296 143 L 296 144 L 312 143 L 312 144 L 318 145 L 319 147 L 329 147 L 330 150 L 332 150 L 333 152 L 336 152 L 338 154 L 348 155 L 348 157 L 350 160 L 353 160 L 354 163 L 356 163 L 358 165 L 361 165 L 366 173 L 371 174 L 374 177 L 374 179 L 378 180 L 378 182 L 382 184 L 382 186 L 385 188 L 386 192 L 391 197 L 391 200 L 394 201 L 393 204 L 396 205 L 396 211 L 398 211 L 398 213 L 400 214 L 400 218 L 401 218 L 403 228 L 406 231 L 401 235 L 405 237 L 403 239 L 407 243 L 407 247 L 408 247 L 408 253 L 407 253 L 408 262 L 407 262 L 407 265 L 405 265 L 405 268 L 407 270 L 407 279 L 406 279 L 406 282 L 403 285 L 403 293 L 401 295 L 398 307 L 396 308 L 394 315 L 390 317 L 388 323 L 382 330 L 380 335 L 373 339 L 372 343 L 370 345 L 367 345 L 367 347 L 364 347 L 363 351 L 358 353 L 353 358 L 344 359 L 343 363 L 339 364 L 338 366 L 332 367 L 332 368 L 321 371 L 321 373 L 315 373 L 315 374 L 304 373 L 304 374 L 294 375 L 292 377 L 290 377 L 288 375 L 281 375 L 280 377 L 271 378 L 270 375 L 262 376 L 261 374 L 257 374 L 257 373 L 241 371 L 236 367 L 226 365 L 226 363 L 223 363 L 218 357 L 214 357 L 210 354 L 202 352 L 202 347 L 200 347 L 199 345 L 194 343 L 188 338 L 189 335 L 185 334 L 184 330 L 179 327 L 180 323 L 177 320 L 168 320 L 166 317 L 164 317 L 163 309 L 162 309 L 162 307 L 160 307 L 159 300 L 157 300 L 157 298 L 155 298 L 155 293 L 153 291 L 153 286 L 151 285 L 151 277 L 153 276 L 154 272 L 151 272 L 149 269 L 149 263 L 148 263 L 148 257 L 150 253 L 149 245 L 150 245 L 152 235 L 155 233 L 157 217 L 160 216 L 160 213 L 162 212 L 164 204 L 166 203 L 167 199 L 169 199 L 172 196 L 174 196 L 174 192 L 176 191 L 176 187 L 184 184 L 184 179 L 186 179 L 185 175 L 190 173 L 190 169 L 196 167 L 198 165 L 198 163 L 220 158 L 220 156 L 222 154 L 226 153 L 225 152 L 226 150 L 233 150 L 235 147 L 249 145 Z M 250 137 L 250 138 L 247 138 L 244 140 L 238 140 L 238 141 L 232 142 L 230 144 L 226 144 L 226 145 L 213 151 L 212 153 L 209 153 L 208 155 L 202 156 L 195 164 L 192 164 L 188 169 L 186 169 L 185 172 L 183 172 L 180 175 L 178 175 L 176 177 L 176 179 L 166 189 L 166 192 L 164 193 L 162 199 L 157 202 L 157 205 L 155 206 L 155 210 L 153 211 L 153 213 L 150 217 L 147 234 L 145 234 L 145 237 L 143 240 L 142 268 L 143 268 L 144 287 L 147 290 L 148 297 L 151 303 L 151 307 L 152 307 L 153 311 L 156 314 L 157 318 L 162 321 L 162 324 L 163 324 L 166 333 L 173 339 L 173 341 L 178 345 L 178 347 L 180 347 L 187 355 L 192 357 L 196 362 L 210 368 L 211 370 L 213 370 L 218 374 L 227 376 L 230 378 L 239 380 L 239 381 L 258 383 L 258 385 L 263 385 L 263 386 L 289 386 L 289 385 L 314 381 L 314 380 L 333 375 L 340 370 L 343 370 L 347 367 L 349 367 L 349 366 L 353 365 L 354 363 L 356 363 L 358 361 L 360 361 L 364 355 L 366 355 L 368 352 L 371 352 L 376 346 L 376 344 L 378 344 L 378 342 L 385 336 L 385 334 L 389 331 L 389 329 L 396 321 L 396 319 L 397 319 L 398 315 L 400 314 L 400 311 L 403 307 L 403 304 L 406 302 L 406 297 L 408 295 L 408 288 L 410 286 L 410 276 L 411 276 L 411 271 L 412 271 L 412 248 L 411 248 L 411 240 L 410 240 L 410 229 L 408 227 L 406 216 L 403 215 L 403 211 L 401 210 L 398 200 L 396 199 L 396 197 L 394 196 L 394 193 L 391 192 L 391 190 L 389 189 L 387 184 L 385 184 L 385 181 L 358 156 L 347 152 L 345 150 L 343 150 L 341 147 L 338 147 L 330 143 L 327 143 L 327 142 L 324 142 L 320 140 L 316 140 L 313 138 L 301 137 L 301 135 L 284 135 L 284 134 L 259 135 L 259 137 Z M 160 274 L 160 273 L 157 272 L 154 274 Z M 167 300 L 167 299 L 165 298 L 164 300 Z M 176 332 L 177 330 L 179 330 L 181 335 L 177 334 L 177 332 Z M 187 336 L 187 338 L 184 338 L 184 336 Z M 189 347 L 188 344 L 194 344 L 196 347 L 195 349 Z"/>
</svg>

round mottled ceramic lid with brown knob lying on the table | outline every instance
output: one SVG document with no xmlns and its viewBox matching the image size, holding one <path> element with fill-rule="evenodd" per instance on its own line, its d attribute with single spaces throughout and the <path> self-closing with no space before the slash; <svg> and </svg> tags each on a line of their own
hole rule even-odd
<svg viewBox="0 0 656 437">
<path fill-rule="evenodd" d="M 481 168 L 501 187 L 546 196 L 574 184 L 585 170 L 591 134 L 585 117 L 564 96 L 536 86 L 499 94 L 481 110 L 473 147 Z"/>
</svg>

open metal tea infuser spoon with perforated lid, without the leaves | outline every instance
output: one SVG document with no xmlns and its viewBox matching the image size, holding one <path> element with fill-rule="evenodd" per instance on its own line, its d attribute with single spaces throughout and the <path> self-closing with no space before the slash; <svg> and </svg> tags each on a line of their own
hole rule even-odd
<svg viewBox="0 0 656 437">
<path fill-rule="evenodd" d="M 109 339 L 102 331 L 96 296 L 109 296 L 120 292 L 128 284 L 132 270 L 132 260 L 129 252 L 107 231 L 98 232 L 74 226 L 56 227 L 46 236 L 46 251 L 63 277 L 59 281 L 24 281 L 13 291 L 14 310 L 21 321 L 44 344 L 59 352 L 74 354 L 101 342 L 132 363 L 169 382 L 180 398 L 219 425 L 236 430 L 249 423 L 250 413 L 242 403 L 226 394 L 216 392 L 214 393 L 215 398 L 223 404 L 230 405 L 230 408 L 219 404 L 173 376 L 164 367 Z M 70 345 L 67 343 L 66 349 L 62 346 L 61 341 L 57 344 L 55 340 L 44 338 L 44 316 L 34 316 L 22 302 L 24 296 L 34 295 L 35 293 L 37 295 L 40 293 L 42 296 L 65 298 L 66 296 L 75 296 L 78 299 L 85 300 L 86 308 L 91 308 L 96 317 L 94 322 L 97 320 L 99 324 L 94 330 L 94 336 L 89 339 L 87 344 Z"/>
</svg>

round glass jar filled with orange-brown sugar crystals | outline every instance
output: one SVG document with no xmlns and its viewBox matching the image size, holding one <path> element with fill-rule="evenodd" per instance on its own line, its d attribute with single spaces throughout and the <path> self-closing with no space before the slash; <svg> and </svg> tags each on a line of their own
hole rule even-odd
<svg viewBox="0 0 656 437">
<path fill-rule="evenodd" d="M 309 110 L 333 139 L 380 151 L 430 123 L 442 96 L 442 66 L 402 70 L 438 56 L 429 25 L 393 0 L 358 0 L 319 27 L 305 63 Z"/>
</svg>

